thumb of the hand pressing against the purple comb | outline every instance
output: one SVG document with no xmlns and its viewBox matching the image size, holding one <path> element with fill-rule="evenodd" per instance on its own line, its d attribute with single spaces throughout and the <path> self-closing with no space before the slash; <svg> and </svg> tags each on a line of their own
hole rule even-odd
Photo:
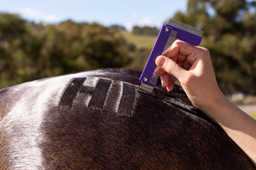
<svg viewBox="0 0 256 170">
<path fill-rule="evenodd" d="M 182 82 L 181 80 L 187 75 L 186 70 L 177 65 L 177 63 L 172 59 L 169 59 L 163 55 L 160 55 L 155 60 L 155 64 L 162 70 L 166 71 L 166 73 L 176 77 L 179 82 Z"/>
</svg>

